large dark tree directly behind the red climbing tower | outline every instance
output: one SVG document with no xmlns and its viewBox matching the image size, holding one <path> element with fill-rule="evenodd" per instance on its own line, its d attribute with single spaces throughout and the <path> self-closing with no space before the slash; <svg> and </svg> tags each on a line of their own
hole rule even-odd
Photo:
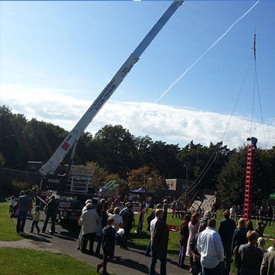
<svg viewBox="0 0 275 275">
<path fill-rule="evenodd" d="M 241 147 L 232 153 L 219 175 L 217 189 L 225 206 L 243 204 L 245 192 L 245 173 L 248 147 Z M 261 203 L 275 191 L 275 151 L 255 151 L 252 201 Z"/>
</svg>

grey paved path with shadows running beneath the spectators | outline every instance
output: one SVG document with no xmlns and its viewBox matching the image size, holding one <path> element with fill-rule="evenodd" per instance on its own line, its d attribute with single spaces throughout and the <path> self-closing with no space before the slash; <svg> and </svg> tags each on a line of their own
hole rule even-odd
<svg viewBox="0 0 275 275">
<path fill-rule="evenodd" d="M 43 213 L 41 213 L 43 214 Z M 25 224 L 25 232 L 30 232 L 32 221 L 28 219 Z M 39 228 L 42 228 L 43 221 L 39 222 Z M 50 229 L 50 223 L 47 225 Z M 0 247 L 19 247 L 30 248 L 36 250 L 47 250 L 50 252 L 62 253 L 72 256 L 80 261 L 85 261 L 92 265 L 100 263 L 101 257 L 91 256 L 81 253 L 76 249 L 76 241 L 78 232 L 72 232 L 56 225 L 58 234 L 26 234 L 27 240 L 3 242 L 0 241 Z M 34 228 L 34 232 L 36 229 Z M 96 246 L 96 243 L 95 243 Z M 117 261 L 108 263 L 107 270 L 117 275 L 144 275 L 148 274 L 148 267 L 150 265 L 150 257 L 144 256 L 144 251 L 129 247 L 129 250 L 121 250 L 119 246 L 115 247 L 115 257 Z M 159 261 L 156 265 L 156 274 L 159 274 Z M 189 272 L 177 267 L 177 259 L 168 257 L 167 261 L 168 275 L 187 275 Z"/>
</svg>

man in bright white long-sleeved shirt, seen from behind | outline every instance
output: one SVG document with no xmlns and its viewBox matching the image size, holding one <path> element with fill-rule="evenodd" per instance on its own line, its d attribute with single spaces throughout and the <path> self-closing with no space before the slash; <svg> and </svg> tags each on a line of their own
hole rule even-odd
<svg viewBox="0 0 275 275">
<path fill-rule="evenodd" d="M 215 228 L 216 221 L 214 219 L 208 220 L 208 227 L 199 234 L 197 240 L 197 250 L 199 254 L 201 254 L 203 275 L 223 274 L 223 244 L 221 243 L 221 237 Z"/>
</svg>

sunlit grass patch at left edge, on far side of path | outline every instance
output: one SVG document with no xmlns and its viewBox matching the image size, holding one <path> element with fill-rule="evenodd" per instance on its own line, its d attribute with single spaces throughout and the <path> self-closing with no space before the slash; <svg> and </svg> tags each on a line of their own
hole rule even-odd
<svg viewBox="0 0 275 275">
<path fill-rule="evenodd" d="M 18 241 L 23 237 L 17 233 L 14 218 L 10 218 L 8 202 L 0 203 L 0 241 Z"/>
</svg>

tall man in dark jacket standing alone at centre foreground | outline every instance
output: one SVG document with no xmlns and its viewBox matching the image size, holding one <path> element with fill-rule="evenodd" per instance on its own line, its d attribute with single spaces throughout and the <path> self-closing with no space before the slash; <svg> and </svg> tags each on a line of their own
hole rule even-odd
<svg viewBox="0 0 275 275">
<path fill-rule="evenodd" d="M 155 263 L 157 256 L 160 260 L 160 275 L 166 275 L 166 255 L 168 247 L 169 228 L 163 221 L 164 212 L 162 209 L 155 211 L 155 226 L 151 232 L 151 252 L 152 258 L 149 268 L 149 275 L 155 275 Z"/>
</svg>

